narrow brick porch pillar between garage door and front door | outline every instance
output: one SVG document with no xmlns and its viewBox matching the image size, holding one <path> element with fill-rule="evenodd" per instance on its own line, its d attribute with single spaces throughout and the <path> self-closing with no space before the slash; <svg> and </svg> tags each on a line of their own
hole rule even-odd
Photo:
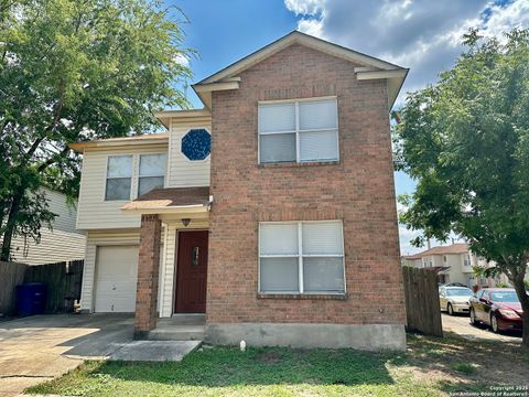
<svg viewBox="0 0 529 397">
<path fill-rule="evenodd" d="M 156 328 L 161 222 L 158 215 L 141 215 L 138 289 L 136 293 L 136 337 Z"/>
</svg>

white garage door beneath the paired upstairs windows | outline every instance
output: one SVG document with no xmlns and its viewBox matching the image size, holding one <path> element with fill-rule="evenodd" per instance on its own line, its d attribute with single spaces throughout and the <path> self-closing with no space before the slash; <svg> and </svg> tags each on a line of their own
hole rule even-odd
<svg viewBox="0 0 529 397">
<path fill-rule="evenodd" d="M 136 310 L 138 246 L 97 248 L 96 313 Z"/>
</svg>

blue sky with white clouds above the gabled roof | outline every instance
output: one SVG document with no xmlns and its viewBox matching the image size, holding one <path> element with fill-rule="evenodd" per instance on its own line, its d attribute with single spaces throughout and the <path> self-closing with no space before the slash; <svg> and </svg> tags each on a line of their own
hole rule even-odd
<svg viewBox="0 0 529 397">
<path fill-rule="evenodd" d="M 501 39 L 514 28 L 529 28 L 529 0 L 165 0 L 180 8 L 185 46 L 198 56 L 188 63 L 198 82 L 284 34 L 300 30 L 336 44 L 409 67 L 397 99 L 433 84 L 463 51 L 468 28 Z M 179 19 L 183 20 L 182 17 Z M 194 107 L 203 105 L 191 87 Z M 396 192 L 414 183 L 396 173 Z M 417 232 L 399 227 L 402 255 L 420 249 L 409 242 Z M 433 245 L 436 243 L 433 242 Z"/>
</svg>

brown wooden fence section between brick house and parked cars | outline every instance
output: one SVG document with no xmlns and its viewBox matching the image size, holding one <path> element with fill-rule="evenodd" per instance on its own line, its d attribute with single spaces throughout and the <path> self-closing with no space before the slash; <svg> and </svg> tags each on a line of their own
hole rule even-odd
<svg viewBox="0 0 529 397">
<path fill-rule="evenodd" d="M 443 336 L 438 273 L 428 269 L 404 266 L 402 276 L 408 330 L 425 335 Z"/>
</svg>

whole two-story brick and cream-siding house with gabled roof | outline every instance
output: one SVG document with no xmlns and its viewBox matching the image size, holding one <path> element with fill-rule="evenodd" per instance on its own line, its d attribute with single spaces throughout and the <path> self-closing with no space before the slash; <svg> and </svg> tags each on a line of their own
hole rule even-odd
<svg viewBox="0 0 529 397">
<path fill-rule="evenodd" d="M 290 33 L 169 132 L 74 143 L 82 309 L 205 313 L 212 343 L 406 346 L 389 110 L 407 69 Z"/>
</svg>

